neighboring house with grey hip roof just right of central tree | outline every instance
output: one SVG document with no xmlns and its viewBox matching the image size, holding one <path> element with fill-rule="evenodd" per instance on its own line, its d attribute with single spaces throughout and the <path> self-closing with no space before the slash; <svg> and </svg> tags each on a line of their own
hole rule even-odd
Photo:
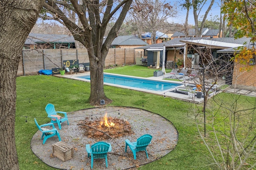
<svg viewBox="0 0 256 170">
<path fill-rule="evenodd" d="M 105 38 L 106 39 L 106 38 Z M 105 41 L 103 40 L 103 43 Z M 124 35 L 124 36 L 118 36 L 114 39 L 114 41 L 111 43 L 110 48 L 136 48 L 148 45 L 145 41 L 138 38 L 135 35 Z"/>
</svg>

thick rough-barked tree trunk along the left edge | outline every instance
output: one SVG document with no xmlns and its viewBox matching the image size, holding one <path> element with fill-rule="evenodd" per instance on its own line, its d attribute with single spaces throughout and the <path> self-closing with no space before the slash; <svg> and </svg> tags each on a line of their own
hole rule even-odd
<svg viewBox="0 0 256 170">
<path fill-rule="evenodd" d="M 0 169 L 18 170 L 14 122 L 16 73 L 22 47 L 36 23 L 43 0 L 0 1 Z"/>
</svg>

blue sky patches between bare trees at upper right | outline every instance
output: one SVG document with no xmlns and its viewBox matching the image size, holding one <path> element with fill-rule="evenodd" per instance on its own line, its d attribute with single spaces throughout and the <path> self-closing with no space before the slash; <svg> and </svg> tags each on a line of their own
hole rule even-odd
<svg viewBox="0 0 256 170">
<path fill-rule="evenodd" d="M 177 5 L 179 5 L 180 2 L 182 2 L 182 1 L 166 0 L 166 2 L 170 2 L 171 4 L 176 2 Z M 199 14 L 199 17 L 198 17 L 199 19 L 201 18 L 202 15 L 205 14 L 209 4 L 210 4 L 210 0 L 207 0 L 206 4 L 204 5 L 204 7 L 202 8 L 202 10 Z M 220 4 L 220 0 L 215 0 L 214 5 L 212 6 L 212 9 L 210 10 L 210 12 L 208 14 L 208 20 L 210 20 L 210 18 L 213 16 L 216 16 L 216 15 L 220 16 L 220 6 L 218 4 Z M 186 10 L 180 8 L 177 18 L 171 18 L 170 22 L 184 24 L 185 20 L 186 20 Z M 189 12 L 188 23 L 191 25 L 195 25 L 192 9 L 190 9 L 190 12 Z"/>
</svg>

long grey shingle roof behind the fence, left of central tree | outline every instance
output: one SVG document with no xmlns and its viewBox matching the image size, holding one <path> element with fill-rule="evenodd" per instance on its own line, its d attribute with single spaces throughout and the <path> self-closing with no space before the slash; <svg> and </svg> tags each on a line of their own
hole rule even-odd
<svg viewBox="0 0 256 170">
<path fill-rule="evenodd" d="M 58 35 L 58 34 L 37 34 L 30 33 L 27 38 L 27 42 L 33 41 L 34 43 L 74 43 L 74 37 L 72 35 Z"/>
</svg>

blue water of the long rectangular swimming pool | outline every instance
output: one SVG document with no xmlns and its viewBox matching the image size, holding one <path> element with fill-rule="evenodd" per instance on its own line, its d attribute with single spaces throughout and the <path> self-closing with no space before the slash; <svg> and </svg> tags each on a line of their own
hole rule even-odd
<svg viewBox="0 0 256 170">
<path fill-rule="evenodd" d="M 90 76 L 79 76 L 78 78 L 84 78 L 84 79 L 90 80 Z M 176 86 L 181 85 L 180 83 L 146 80 L 142 78 L 132 78 L 132 77 L 125 77 L 125 76 L 110 75 L 110 74 L 104 74 L 104 82 L 117 84 L 121 86 L 142 88 L 146 90 L 154 90 L 159 92 L 165 91 L 171 88 L 175 88 Z"/>
</svg>

